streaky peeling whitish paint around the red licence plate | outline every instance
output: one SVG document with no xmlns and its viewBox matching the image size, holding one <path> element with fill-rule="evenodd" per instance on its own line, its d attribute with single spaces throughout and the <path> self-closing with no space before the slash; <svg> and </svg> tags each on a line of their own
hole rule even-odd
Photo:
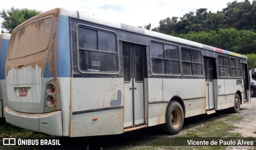
<svg viewBox="0 0 256 150">
<path fill-rule="evenodd" d="M 42 94 L 41 68 L 36 65 L 12 68 L 6 76 L 8 107 L 20 112 L 42 113 L 44 95 Z M 28 90 L 26 97 L 18 96 L 19 89 Z M 13 92 L 11 92 L 13 91 Z"/>
</svg>

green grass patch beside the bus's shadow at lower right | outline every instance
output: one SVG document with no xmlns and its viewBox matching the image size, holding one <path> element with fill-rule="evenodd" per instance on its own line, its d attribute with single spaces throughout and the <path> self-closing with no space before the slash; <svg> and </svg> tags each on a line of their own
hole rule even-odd
<svg viewBox="0 0 256 150">
<path fill-rule="evenodd" d="M 243 119 L 243 117 L 236 115 L 225 116 L 221 119 L 214 119 L 207 121 L 202 126 L 198 126 L 194 128 L 194 130 L 189 130 L 185 134 L 180 134 L 174 136 L 176 138 L 162 138 L 155 140 L 148 140 L 149 146 L 134 146 L 126 149 L 133 150 L 223 150 L 227 148 L 227 146 L 172 146 L 172 145 L 184 145 L 184 142 L 187 142 L 185 139 L 214 139 L 219 137 L 231 137 L 237 138 L 242 137 L 240 133 L 231 133 L 232 130 L 237 128 L 233 126 L 233 122 L 239 122 Z M 215 140 L 216 141 L 216 140 Z M 187 143 L 186 143 L 187 144 Z M 151 145 L 151 146 L 150 146 Z M 156 146 L 158 145 L 158 146 Z M 210 145 L 210 144 L 209 144 Z"/>
</svg>

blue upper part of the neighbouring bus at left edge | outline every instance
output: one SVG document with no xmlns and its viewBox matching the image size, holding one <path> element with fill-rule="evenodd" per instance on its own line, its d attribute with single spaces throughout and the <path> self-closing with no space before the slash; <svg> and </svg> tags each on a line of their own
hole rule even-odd
<svg viewBox="0 0 256 150">
<path fill-rule="evenodd" d="M 5 60 L 9 41 L 9 39 L 2 39 L 2 44 L 0 46 L 0 80 L 5 79 Z"/>
</svg>

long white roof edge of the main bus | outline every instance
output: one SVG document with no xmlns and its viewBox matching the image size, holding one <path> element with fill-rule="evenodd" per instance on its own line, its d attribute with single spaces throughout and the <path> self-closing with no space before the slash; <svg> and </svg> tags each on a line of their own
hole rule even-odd
<svg viewBox="0 0 256 150">
<path fill-rule="evenodd" d="M 146 30 L 146 29 L 139 28 L 139 27 L 136 27 L 136 26 L 130 26 L 128 24 L 109 21 L 109 20 L 106 20 L 104 18 L 98 18 L 98 17 L 95 17 L 93 15 L 85 14 L 85 13 L 78 12 L 78 11 L 68 10 L 68 9 L 65 9 L 65 8 L 55 8 L 55 9 L 43 12 L 41 14 L 38 14 L 37 16 L 34 16 L 33 18 L 30 18 L 29 20 L 26 20 L 25 22 L 23 22 L 22 24 L 17 26 L 12 32 L 15 32 L 16 30 L 18 30 L 18 28 L 20 28 L 21 26 L 24 26 L 25 24 L 27 24 L 28 22 L 30 22 L 32 20 L 35 20 L 35 19 L 40 18 L 42 16 L 47 16 L 47 15 L 50 15 L 50 14 L 55 14 L 55 16 L 63 15 L 63 16 L 71 16 L 71 17 L 74 17 L 74 18 L 80 18 L 82 20 L 87 20 L 89 22 L 94 22 L 96 24 L 102 24 L 102 25 L 106 25 L 106 26 L 110 26 L 110 27 L 114 27 L 114 28 L 119 28 L 119 29 L 122 29 L 122 30 L 130 31 L 130 32 L 135 32 L 135 33 L 138 33 L 138 34 L 144 34 L 144 35 L 148 35 L 148 36 L 152 36 L 152 37 L 156 37 L 156 38 L 162 38 L 164 40 L 168 40 L 168 41 L 172 41 L 172 42 L 186 43 L 187 45 L 190 45 L 190 46 L 195 46 L 195 47 L 198 47 L 198 48 L 204 48 L 206 50 L 211 50 L 211 51 L 215 51 L 215 52 L 219 52 L 219 53 L 228 54 L 228 55 L 232 55 L 232 56 L 247 59 L 247 57 L 245 55 L 242 55 L 242 54 L 237 54 L 237 53 L 234 53 L 234 52 L 230 52 L 230 51 L 223 50 L 223 49 L 220 49 L 220 48 L 215 48 L 215 47 L 208 46 L 208 45 L 205 45 L 205 44 L 201 44 L 201 43 L 198 43 L 198 42 L 193 42 L 193 41 L 178 38 L 178 37 L 175 37 L 175 36 L 170 36 L 170 35 L 167 35 L 167 34 L 162 34 L 162 33 L 159 33 L 159 32 Z"/>
</svg>

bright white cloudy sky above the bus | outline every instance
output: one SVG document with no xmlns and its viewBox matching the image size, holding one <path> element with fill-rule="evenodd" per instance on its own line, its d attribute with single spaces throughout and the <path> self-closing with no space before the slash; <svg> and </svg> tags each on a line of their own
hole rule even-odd
<svg viewBox="0 0 256 150">
<path fill-rule="evenodd" d="M 0 10 L 28 8 L 47 11 L 53 8 L 67 8 L 94 14 L 100 18 L 122 22 L 132 26 L 145 26 L 151 23 L 151 28 L 159 26 L 158 22 L 173 16 L 184 14 L 199 8 L 207 8 L 208 12 L 217 12 L 226 8 L 228 2 L 234 0 L 1 0 Z M 242 2 L 243 0 L 237 0 Z M 250 0 L 251 2 L 251 0 Z M 0 18 L 0 23 L 2 23 Z"/>
</svg>

